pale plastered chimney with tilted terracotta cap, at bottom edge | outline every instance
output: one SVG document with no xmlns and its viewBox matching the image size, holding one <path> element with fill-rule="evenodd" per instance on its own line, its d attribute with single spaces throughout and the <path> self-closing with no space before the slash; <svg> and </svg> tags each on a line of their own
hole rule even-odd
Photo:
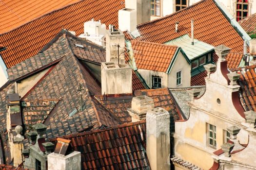
<svg viewBox="0 0 256 170">
<path fill-rule="evenodd" d="M 81 153 L 71 151 L 71 140 L 57 138 L 54 153 L 47 156 L 48 170 L 81 170 Z"/>
</svg>

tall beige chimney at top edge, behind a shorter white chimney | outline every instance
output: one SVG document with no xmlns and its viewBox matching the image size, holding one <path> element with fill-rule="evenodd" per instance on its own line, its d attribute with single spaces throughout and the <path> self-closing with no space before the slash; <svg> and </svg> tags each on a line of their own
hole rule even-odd
<svg viewBox="0 0 256 170">
<path fill-rule="evenodd" d="M 125 8 L 136 10 L 137 24 L 150 21 L 150 0 L 125 0 Z"/>
</svg>

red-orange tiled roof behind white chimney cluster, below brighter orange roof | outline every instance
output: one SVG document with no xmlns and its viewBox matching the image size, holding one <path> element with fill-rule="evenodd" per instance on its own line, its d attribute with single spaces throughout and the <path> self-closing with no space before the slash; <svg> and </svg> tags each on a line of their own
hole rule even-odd
<svg viewBox="0 0 256 170">
<path fill-rule="evenodd" d="M 41 50 L 62 28 L 83 33 L 85 21 L 101 20 L 118 27 L 118 10 L 124 8 L 122 0 L 82 0 L 0 35 L 7 48 L 1 56 L 7 68 L 28 59 Z"/>
</svg>

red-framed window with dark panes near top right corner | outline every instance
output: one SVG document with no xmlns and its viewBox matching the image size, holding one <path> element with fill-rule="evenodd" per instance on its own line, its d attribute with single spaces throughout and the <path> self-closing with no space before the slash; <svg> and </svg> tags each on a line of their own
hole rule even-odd
<svg viewBox="0 0 256 170">
<path fill-rule="evenodd" d="M 249 2 L 248 0 L 236 0 L 236 21 L 248 17 Z"/>
</svg>

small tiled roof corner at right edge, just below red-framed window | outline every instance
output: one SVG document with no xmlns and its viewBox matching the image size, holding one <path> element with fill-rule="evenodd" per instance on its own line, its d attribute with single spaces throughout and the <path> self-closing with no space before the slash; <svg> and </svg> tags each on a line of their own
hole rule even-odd
<svg viewBox="0 0 256 170">
<path fill-rule="evenodd" d="M 247 34 L 256 34 L 256 14 L 239 20 L 238 23 L 241 25 L 244 31 L 246 31 Z"/>
</svg>

